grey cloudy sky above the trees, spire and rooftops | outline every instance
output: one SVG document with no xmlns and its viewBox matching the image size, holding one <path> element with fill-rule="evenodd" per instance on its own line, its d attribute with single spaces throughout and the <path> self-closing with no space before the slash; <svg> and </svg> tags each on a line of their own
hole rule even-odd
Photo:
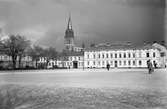
<svg viewBox="0 0 167 109">
<path fill-rule="evenodd" d="M 0 0 L 0 27 L 33 43 L 63 47 L 69 12 L 75 41 L 164 40 L 165 0 Z"/>
</svg>

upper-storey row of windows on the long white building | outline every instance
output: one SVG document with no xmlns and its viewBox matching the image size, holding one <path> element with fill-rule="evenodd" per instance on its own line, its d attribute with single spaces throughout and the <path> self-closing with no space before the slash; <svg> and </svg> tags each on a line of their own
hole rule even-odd
<svg viewBox="0 0 167 109">
<path fill-rule="evenodd" d="M 115 53 L 115 54 L 113 54 L 113 53 L 107 53 L 106 55 L 105 54 L 98 54 L 98 57 L 96 56 L 96 54 L 93 54 L 93 58 L 94 59 L 96 59 L 96 58 L 135 58 L 136 57 L 136 54 L 135 53 L 128 53 L 128 54 L 126 54 L 126 53 L 124 53 L 124 54 L 121 54 L 121 53 L 119 53 L 119 54 L 117 54 L 117 53 Z M 141 54 L 140 54 L 140 56 L 139 57 L 141 57 Z M 146 53 L 146 57 L 150 57 L 150 53 Z M 155 54 L 155 52 L 153 53 L 153 57 L 156 57 L 156 54 Z M 89 54 L 87 54 L 87 58 L 89 59 L 90 58 L 90 55 Z"/>
</svg>

